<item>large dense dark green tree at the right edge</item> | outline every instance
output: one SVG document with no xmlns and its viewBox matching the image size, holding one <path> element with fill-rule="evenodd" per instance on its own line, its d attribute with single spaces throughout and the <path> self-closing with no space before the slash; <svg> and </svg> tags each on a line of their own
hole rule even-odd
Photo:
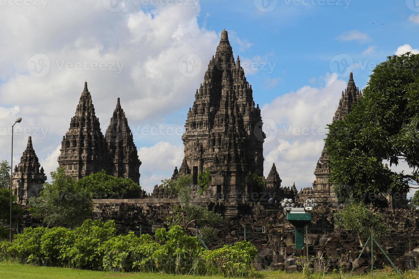
<svg viewBox="0 0 419 279">
<path fill-rule="evenodd" d="M 378 64 L 351 113 L 329 128 L 329 183 L 338 197 L 408 191 L 419 169 L 419 55 Z M 411 171 L 392 171 L 386 161 L 390 168 L 406 162 Z"/>
</svg>

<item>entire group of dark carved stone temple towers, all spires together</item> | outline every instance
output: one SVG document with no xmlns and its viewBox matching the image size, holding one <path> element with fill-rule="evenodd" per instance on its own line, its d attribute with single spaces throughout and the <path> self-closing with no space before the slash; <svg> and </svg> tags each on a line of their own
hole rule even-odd
<svg viewBox="0 0 419 279">
<path fill-rule="evenodd" d="M 351 73 L 332 121 L 343 120 L 361 97 Z M 252 214 L 260 202 L 275 203 L 283 198 L 295 202 L 314 198 L 321 205 L 339 206 L 334 186 L 328 183 L 331 169 L 326 146 L 317 163 L 313 162 L 316 176 L 313 187 L 298 191 L 295 183 L 282 185 L 275 164 L 268 176 L 263 177 L 265 134 L 262 124 L 261 109 L 253 100 L 252 86 L 246 80 L 239 56 L 236 59 L 233 56 L 228 32 L 223 30 L 215 55 L 209 61 L 204 80 L 187 113 L 182 136 L 184 159 L 179 162 L 179 169 L 175 167 L 171 178 L 191 174 L 194 197 L 200 202 L 205 200 L 210 209 L 225 216 Z M 58 163 L 76 180 L 103 169 L 115 177 L 140 183 L 141 161 L 119 98 L 103 135 L 92 95 L 87 82 L 84 83 L 75 115 L 62 138 Z M 197 177 L 206 170 L 211 175 L 211 182 L 204 195 L 199 197 Z M 266 198 L 263 195 L 258 195 L 256 200 L 251 198 L 251 193 L 260 191 L 254 188 L 255 175 L 263 177 L 266 187 L 261 194 L 267 194 Z M 28 147 L 13 174 L 13 189 L 18 201 L 27 204 L 28 197 L 37 195 L 45 180 L 44 170 L 29 138 Z M 152 193 L 144 193 L 138 198 L 153 200 L 169 196 L 163 186 L 155 185 Z"/>
</svg>

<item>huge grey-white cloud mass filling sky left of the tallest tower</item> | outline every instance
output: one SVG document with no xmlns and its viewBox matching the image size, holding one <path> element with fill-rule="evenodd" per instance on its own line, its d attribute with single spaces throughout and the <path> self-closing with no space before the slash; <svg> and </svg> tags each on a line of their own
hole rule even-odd
<svg viewBox="0 0 419 279">
<path fill-rule="evenodd" d="M 56 168 L 56 146 L 68 130 L 85 79 L 102 132 L 107 128 L 117 97 L 121 97 L 132 127 L 145 122 L 166 123 L 168 115 L 183 111 L 193 102 L 207 59 L 214 54 L 220 36 L 199 26 L 199 13 L 199 6 L 143 7 L 132 1 L 127 1 L 118 13 L 106 10 L 102 1 L 88 4 L 83 0 L 49 1 L 45 9 L 2 6 L 2 37 L 8 39 L 0 44 L 3 54 L 0 56 L 0 127 L 7 128 L 16 117 L 22 117 L 15 130 L 18 126 L 29 129 L 28 133 L 15 133 L 13 162 L 20 159 L 31 135 L 45 172 L 49 174 Z M 49 72 L 43 77 L 28 74 L 27 67 L 34 67 L 28 59 L 36 54 L 45 54 L 50 62 Z M 179 61 L 186 54 L 197 54 L 202 60 L 202 68 L 194 77 L 185 77 L 178 70 Z M 40 68 L 46 59 L 34 62 L 39 69 L 46 69 Z M 66 63 L 81 66 L 69 69 Z M 105 63 L 106 70 L 93 69 L 92 63 Z M 123 65 L 119 74 L 110 69 L 116 63 Z M 182 115 L 186 118 L 186 112 Z M 171 120 L 171 125 L 184 125 L 185 118 Z M 5 136 L 0 139 L 0 159 L 10 156 L 10 133 L 6 132 Z M 162 140 L 174 142 L 173 137 Z M 147 138 L 147 142 L 153 145 L 155 139 Z M 137 142 L 137 146 L 142 144 Z M 173 157 L 179 160 L 154 164 L 142 155 L 142 184 L 147 179 L 157 183 L 160 177 L 152 177 L 166 176 L 165 167 L 171 174 L 173 167 L 181 162 L 181 158 Z M 163 155 L 163 158 L 167 157 Z M 147 168 L 149 163 L 155 169 Z M 161 174 L 155 174 L 156 171 Z"/>
</svg>

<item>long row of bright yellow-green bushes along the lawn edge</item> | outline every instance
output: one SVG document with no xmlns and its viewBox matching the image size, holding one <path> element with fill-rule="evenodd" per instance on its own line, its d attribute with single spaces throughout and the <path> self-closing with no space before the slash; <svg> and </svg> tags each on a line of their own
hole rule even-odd
<svg viewBox="0 0 419 279">
<path fill-rule="evenodd" d="M 248 276 L 255 255 L 247 241 L 206 251 L 178 225 L 157 229 L 153 240 L 147 234 L 116 235 L 114 221 L 100 220 L 85 220 L 74 230 L 26 228 L 13 243 L 0 242 L 0 260 L 108 271 Z"/>
</svg>

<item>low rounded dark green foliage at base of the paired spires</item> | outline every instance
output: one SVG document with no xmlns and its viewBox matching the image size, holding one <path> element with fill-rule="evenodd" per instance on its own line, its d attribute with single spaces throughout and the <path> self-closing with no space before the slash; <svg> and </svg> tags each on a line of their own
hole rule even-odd
<svg viewBox="0 0 419 279">
<path fill-rule="evenodd" d="M 83 177 L 76 184 L 80 189 L 93 193 L 94 198 L 134 199 L 141 195 L 141 186 L 132 179 L 114 177 L 103 169 Z"/>
</svg>

